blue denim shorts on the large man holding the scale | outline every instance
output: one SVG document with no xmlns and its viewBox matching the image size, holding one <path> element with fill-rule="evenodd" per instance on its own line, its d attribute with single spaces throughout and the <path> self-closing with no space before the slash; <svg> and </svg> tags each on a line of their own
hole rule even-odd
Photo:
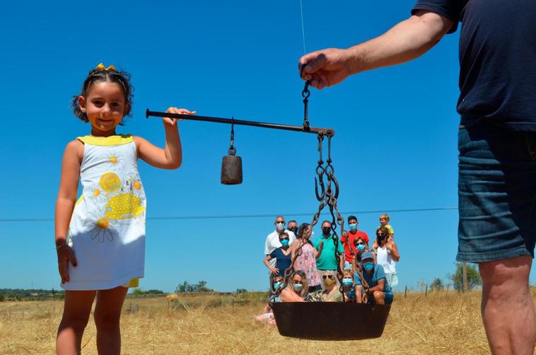
<svg viewBox="0 0 536 355">
<path fill-rule="evenodd" d="M 477 122 L 460 126 L 458 150 L 456 260 L 534 257 L 536 132 Z"/>
</svg>

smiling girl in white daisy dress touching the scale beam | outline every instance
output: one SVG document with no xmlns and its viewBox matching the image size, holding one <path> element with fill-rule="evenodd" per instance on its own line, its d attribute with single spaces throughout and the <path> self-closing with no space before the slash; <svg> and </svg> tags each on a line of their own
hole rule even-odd
<svg viewBox="0 0 536 355">
<path fill-rule="evenodd" d="M 182 149 L 176 120 L 163 118 L 165 148 L 117 135 L 132 108 L 129 74 L 99 64 L 74 96 L 74 115 L 91 124 L 67 144 L 56 203 L 55 242 L 65 289 L 57 354 L 79 354 L 93 299 L 99 354 L 120 354 L 120 315 L 129 286 L 144 277 L 146 199 L 137 158 L 176 169 Z M 170 107 L 166 112 L 193 114 Z M 78 182 L 82 194 L 75 204 Z"/>
</svg>

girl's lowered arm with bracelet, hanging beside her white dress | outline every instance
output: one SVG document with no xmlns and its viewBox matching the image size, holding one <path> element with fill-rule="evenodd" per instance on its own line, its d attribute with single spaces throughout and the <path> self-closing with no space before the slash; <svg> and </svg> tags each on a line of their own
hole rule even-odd
<svg viewBox="0 0 536 355">
<path fill-rule="evenodd" d="M 55 243 L 58 255 L 59 275 L 62 283 L 69 282 L 67 265 L 69 260 L 76 266 L 76 258 L 69 245 L 66 245 L 69 223 L 73 214 L 78 180 L 80 180 L 80 164 L 83 156 L 83 144 L 75 140 L 67 144 L 62 161 L 62 178 L 56 201 Z"/>
</svg>

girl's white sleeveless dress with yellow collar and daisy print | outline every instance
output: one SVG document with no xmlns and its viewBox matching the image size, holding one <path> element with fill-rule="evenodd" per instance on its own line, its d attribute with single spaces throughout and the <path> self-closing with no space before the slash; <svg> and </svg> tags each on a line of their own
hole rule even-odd
<svg viewBox="0 0 536 355">
<path fill-rule="evenodd" d="M 133 136 L 78 137 L 84 144 L 82 195 L 69 224 L 69 245 L 78 265 L 69 264 L 66 290 L 137 286 L 144 277 L 144 187 Z"/>
</svg>

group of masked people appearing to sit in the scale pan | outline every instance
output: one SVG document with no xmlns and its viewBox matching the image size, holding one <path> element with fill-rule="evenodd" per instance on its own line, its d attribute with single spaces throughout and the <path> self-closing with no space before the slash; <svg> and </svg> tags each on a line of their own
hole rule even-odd
<svg viewBox="0 0 536 355">
<path fill-rule="evenodd" d="M 380 216 L 371 244 L 367 233 L 359 231 L 356 216 L 348 217 L 349 231 L 340 238 L 333 233 L 330 221 L 323 221 L 322 235 L 313 238 L 309 223 L 298 226 L 298 222 L 289 221 L 285 228 L 284 216 L 277 216 L 276 229 L 267 235 L 264 245 L 271 301 L 390 305 L 392 287 L 398 284 L 396 262 L 400 253 L 389 221 L 387 214 Z M 275 325 L 269 303 L 255 320 Z"/>
</svg>

